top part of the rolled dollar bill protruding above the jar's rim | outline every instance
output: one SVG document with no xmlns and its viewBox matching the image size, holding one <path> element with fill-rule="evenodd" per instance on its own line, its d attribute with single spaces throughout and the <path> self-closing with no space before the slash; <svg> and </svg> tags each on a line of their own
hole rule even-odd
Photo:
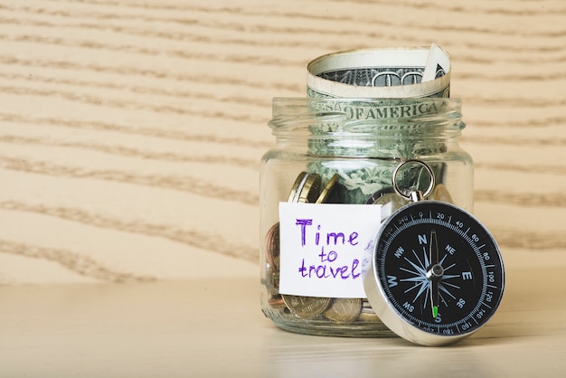
<svg viewBox="0 0 566 378">
<path fill-rule="evenodd" d="M 449 97 L 450 59 L 430 48 L 334 52 L 307 66 L 308 97 L 405 99 Z"/>
</svg>

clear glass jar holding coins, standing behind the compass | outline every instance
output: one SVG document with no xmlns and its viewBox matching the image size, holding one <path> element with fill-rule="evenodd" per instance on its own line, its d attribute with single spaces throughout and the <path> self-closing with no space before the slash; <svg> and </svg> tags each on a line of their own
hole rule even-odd
<svg viewBox="0 0 566 378">
<path fill-rule="evenodd" d="M 333 280 L 332 275 L 340 276 L 336 273 L 340 267 L 325 265 L 324 269 L 332 273 L 324 283 L 327 294 L 316 297 L 306 290 L 308 295 L 303 295 L 301 290 L 304 284 L 307 288 L 307 280 L 303 283 L 301 279 L 316 279 L 317 267 L 311 266 L 308 277 L 305 267 L 303 276 L 297 273 L 300 267 L 291 269 L 297 277 L 289 276 L 289 269 L 281 267 L 288 259 L 283 259 L 287 255 L 281 256 L 286 253 L 283 246 L 287 234 L 280 226 L 279 208 L 282 203 L 324 203 L 330 211 L 340 214 L 344 204 L 364 205 L 363 209 L 368 209 L 365 205 L 381 204 L 391 213 L 406 203 L 392 190 L 392 172 L 401 162 L 418 159 L 434 172 L 434 189 L 427 199 L 454 203 L 471 212 L 473 163 L 458 146 L 465 127 L 460 108 L 458 99 L 273 99 L 269 127 L 276 145 L 262 157 L 259 175 L 261 308 L 266 317 L 285 330 L 308 335 L 393 335 L 363 293 L 350 296 L 343 290 L 334 294 L 338 280 Z M 396 177 L 400 177 L 396 184 L 408 191 L 424 191 L 430 184 L 421 165 Z M 373 221 L 375 227 L 379 228 L 384 216 L 387 214 Z M 303 245 L 305 230 L 316 233 L 316 244 L 330 238 L 320 224 L 318 229 L 316 225 L 311 228 L 310 223 L 307 228 L 306 224 L 297 219 Z M 346 233 L 345 242 L 363 250 L 365 241 L 358 242 L 358 233 L 349 235 L 348 240 Z M 333 237 L 336 243 L 335 233 Z M 328 256 L 331 252 L 324 252 L 323 246 L 320 261 L 333 260 Z M 355 261 L 360 260 L 354 260 L 348 272 L 344 265 L 342 278 L 355 278 L 361 284 L 363 269 Z M 290 282 L 297 287 L 295 291 L 282 294 L 282 279 L 286 289 Z"/>
</svg>

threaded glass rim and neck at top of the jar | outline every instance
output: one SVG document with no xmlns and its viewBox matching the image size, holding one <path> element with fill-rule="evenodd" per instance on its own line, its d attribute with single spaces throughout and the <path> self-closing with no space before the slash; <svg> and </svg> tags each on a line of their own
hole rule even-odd
<svg viewBox="0 0 566 378">
<path fill-rule="evenodd" d="M 269 127 L 276 136 L 372 135 L 434 128 L 435 133 L 459 135 L 462 122 L 461 99 L 350 99 L 290 98 L 273 99 L 273 118 Z M 313 125 L 317 125 L 313 128 Z M 325 125 L 328 128 L 325 128 Z"/>
</svg>

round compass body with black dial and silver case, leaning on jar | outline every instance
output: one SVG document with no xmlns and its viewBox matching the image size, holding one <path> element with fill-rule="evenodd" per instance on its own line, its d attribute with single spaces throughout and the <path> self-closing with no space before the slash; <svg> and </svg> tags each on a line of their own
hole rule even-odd
<svg viewBox="0 0 566 378">
<path fill-rule="evenodd" d="M 410 203 L 382 225 L 366 294 L 383 323 L 423 345 L 470 335 L 498 307 L 505 278 L 495 241 L 476 218 L 436 201 Z"/>
</svg>

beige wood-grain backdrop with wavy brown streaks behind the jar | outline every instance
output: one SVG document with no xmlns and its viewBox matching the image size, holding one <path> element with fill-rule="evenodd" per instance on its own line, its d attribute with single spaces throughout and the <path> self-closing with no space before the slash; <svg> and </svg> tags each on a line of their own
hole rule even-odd
<svg viewBox="0 0 566 378">
<path fill-rule="evenodd" d="M 563 1 L 0 3 L 0 284 L 258 275 L 273 97 L 437 43 L 507 269 L 566 265 Z"/>
</svg>

